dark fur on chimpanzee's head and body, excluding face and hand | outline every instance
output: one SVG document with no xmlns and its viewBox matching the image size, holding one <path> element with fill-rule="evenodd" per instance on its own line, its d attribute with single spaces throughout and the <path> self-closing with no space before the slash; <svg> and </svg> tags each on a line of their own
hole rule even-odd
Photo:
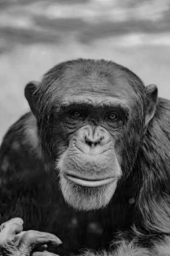
<svg viewBox="0 0 170 256">
<path fill-rule="evenodd" d="M 144 85 L 136 75 L 115 63 L 100 61 L 101 76 L 106 76 L 108 67 L 120 71 L 122 79 L 128 81 L 137 93 L 137 104 L 142 109 L 140 116 L 133 110 L 136 122 L 131 124 L 128 139 L 125 138 L 124 178 L 111 203 L 102 210 L 76 212 L 62 198 L 53 178 L 56 174 L 51 158 L 55 159 L 68 141 L 62 148 L 57 148 L 51 141 L 50 119 L 54 107 L 51 95 L 54 82 L 70 79 L 64 72 L 68 66 L 74 67 L 74 63 L 77 69 L 83 67 L 84 73 L 93 72 L 91 64 L 94 61 L 82 59 L 51 69 L 35 92 L 39 99 L 37 124 L 34 115 L 27 113 L 11 126 L 3 139 L 0 148 L 0 223 L 18 216 L 24 220 L 24 230 L 56 234 L 63 243 L 58 247 L 60 255 L 88 248 L 109 251 L 100 253 L 104 256 L 168 256 L 170 101 L 159 99 L 155 116 L 144 129 L 142 120 L 149 102 Z M 140 138 L 134 136 L 136 129 Z M 118 234 L 119 230 L 121 233 Z M 112 240 L 114 243 L 109 249 Z M 94 252 L 86 251 L 85 255 L 91 256 Z"/>
</svg>

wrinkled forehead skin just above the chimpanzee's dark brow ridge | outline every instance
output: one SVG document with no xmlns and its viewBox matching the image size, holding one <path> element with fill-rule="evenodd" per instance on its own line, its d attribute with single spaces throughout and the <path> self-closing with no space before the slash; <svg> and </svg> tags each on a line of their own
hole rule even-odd
<svg viewBox="0 0 170 256">
<path fill-rule="evenodd" d="M 84 96 L 84 97 L 108 97 L 117 98 L 126 102 L 134 100 L 137 95 L 130 84 L 121 77 L 99 77 L 95 74 L 91 76 L 72 76 L 69 80 L 62 81 L 63 86 L 59 88 L 59 94 L 64 97 Z"/>
</svg>

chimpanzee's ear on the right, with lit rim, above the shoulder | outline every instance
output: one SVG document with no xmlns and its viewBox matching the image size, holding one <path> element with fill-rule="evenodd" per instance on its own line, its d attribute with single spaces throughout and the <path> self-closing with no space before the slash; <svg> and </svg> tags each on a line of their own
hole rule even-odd
<svg viewBox="0 0 170 256">
<path fill-rule="evenodd" d="M 147 90 L 150 95 L 150 104 L 147 108 L 147 113 L 145 116 L 145 125 L 148 125 L 156 111 L 156 105 L 158 102 L 158 88 L 155 84 L 150 84 L 145 88 L 145 90 Z"/>
</svg>

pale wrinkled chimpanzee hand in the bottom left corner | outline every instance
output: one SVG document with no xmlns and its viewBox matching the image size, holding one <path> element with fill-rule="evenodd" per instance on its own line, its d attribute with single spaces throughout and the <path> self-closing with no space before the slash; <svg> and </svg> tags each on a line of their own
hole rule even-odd
<svg viewBox="0 0 170 256">
<path fill-rule="evenodd" d="M 3 256 L 57 256 L 46 251 L 62 242 L 50 233 L 34 230 L 23 231 L 23 220 L 12 218 L 0 226 L 0 253 Z"/>
</svg>

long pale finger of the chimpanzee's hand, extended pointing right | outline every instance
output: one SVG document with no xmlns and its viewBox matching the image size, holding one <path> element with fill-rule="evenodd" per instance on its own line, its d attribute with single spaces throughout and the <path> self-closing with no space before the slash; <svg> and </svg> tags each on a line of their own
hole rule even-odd
<svg viewBox="0 0 170 256">
<path fill-rule="evenodd" d="M 29 230 L 23 234 L 20 243 L 27 245 L 28 247 L 35 248 L 40 245 L 48 244 L 51 247 L 57 247 L 62 244 L 62 241 L 53 234 L 40 232 L 35 230 Z"/>
</svg>

